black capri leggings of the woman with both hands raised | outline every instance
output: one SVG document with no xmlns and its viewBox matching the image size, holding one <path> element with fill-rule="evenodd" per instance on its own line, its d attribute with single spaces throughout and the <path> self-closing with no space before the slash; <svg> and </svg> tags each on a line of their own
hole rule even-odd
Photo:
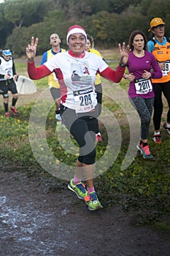
<svg viewBox="0 0 170 256">
<path fill-rule="evenodd" d="M 86 116 L 85 116 L 86 115 Z M 93 165 L 96 158 L 96 127 L 98 126 L 98 111 L 76 114 L 75 110 L 61 105 L 61 116 L 64 125 L 71 132 L 80 146 L 79 162 Z"/>
</svg>

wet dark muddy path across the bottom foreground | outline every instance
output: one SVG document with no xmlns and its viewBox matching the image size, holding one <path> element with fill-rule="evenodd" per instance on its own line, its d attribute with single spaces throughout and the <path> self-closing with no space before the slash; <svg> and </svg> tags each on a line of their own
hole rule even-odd
<svg viewBox="0 0 170 256">
<path fill-rule="evenodd" d="M 1 256 L 169 256 L 170 238 L 120 207 L 89 211 L 66 188 L 1 166 Z M 102 202 L 101 202 L 102 203 Z"/>
</svg>

